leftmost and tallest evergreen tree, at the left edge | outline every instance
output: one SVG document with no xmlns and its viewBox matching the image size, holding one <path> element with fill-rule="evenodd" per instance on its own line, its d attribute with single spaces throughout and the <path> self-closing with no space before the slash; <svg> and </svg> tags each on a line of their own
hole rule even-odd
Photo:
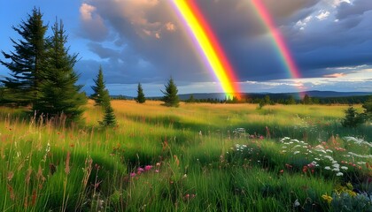
<svg viewBox="0 0 372 212">
<path fill-rule="evenodd" d="M 22 20 L 18 27 L 12 29 L 21 39 L 11 39 L 14 51 L 2 51 L 4 57 L 11 60 L 0 60 L 0 63 L 11 71 L 11 77 L 2 80 L 7 91 L 6 98 L 8 102 L 16 104 L 34 103 L 39 98 L 43 80 L 45 32 L 48 27 L 43 25 L 40 9 L 34 8 L 26 21 Z"/>
</svg>

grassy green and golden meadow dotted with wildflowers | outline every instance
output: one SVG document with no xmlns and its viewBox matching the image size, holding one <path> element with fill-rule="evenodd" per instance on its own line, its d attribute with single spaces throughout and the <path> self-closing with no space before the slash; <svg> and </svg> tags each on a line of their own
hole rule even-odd
<svg viewBox="0 0 372 212">
<path fill-rule="evenodd" d="M 347 105 L 112 101 L 85 125 L 0 109 L 3 211 L 372 211 L 372 125 Z M 361 110 L 360 106 L 356 106 Z"/>
</svg>

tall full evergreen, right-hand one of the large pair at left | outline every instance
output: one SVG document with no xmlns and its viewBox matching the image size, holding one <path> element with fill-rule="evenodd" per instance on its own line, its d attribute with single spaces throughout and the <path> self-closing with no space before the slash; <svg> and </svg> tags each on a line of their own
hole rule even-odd
<svg viewBox="0 0 372 212">
<path fill-rule="evenodd" d="M 69 121 L 79 120 L 86 103 L 86 96 L 80 91 L 81 86 L 75 85 L 79 75 L 74 72 L 77 54 L 69 55 L 65 47 L 67 36 L 62 21 L 52 27 L 48 59 L 44 67 L 41 97 L 34 105 L 34 110 L 49 117 L 64 114 Z"/>
</svg>

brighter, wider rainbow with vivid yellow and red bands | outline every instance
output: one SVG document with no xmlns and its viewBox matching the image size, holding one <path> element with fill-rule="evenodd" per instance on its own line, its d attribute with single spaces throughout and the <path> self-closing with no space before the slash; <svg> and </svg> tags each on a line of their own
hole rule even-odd
<svg viewBox="0 0 372 212">
<path fill-rule="evenodd" d="M 200 54 L 205 57 L 206 64 L 220 81 L 223 92 L 229 97 L 235 95 L 239 98 L 241 90 L 235 72 L 198 6 L 193 0 L 174 0 L 172 2 L 186 26 L 190 28 L 190 33 L 198 43 Z"/>
</svg>

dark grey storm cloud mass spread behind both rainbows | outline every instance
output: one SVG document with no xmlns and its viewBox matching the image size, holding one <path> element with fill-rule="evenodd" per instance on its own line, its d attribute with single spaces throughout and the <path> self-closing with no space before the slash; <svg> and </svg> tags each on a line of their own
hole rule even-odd
<svg viewBox="0 0 372 212">
<path fill-rule="evenodd" d="M 337 73 L 329 68 L 371 64 L 369 0 L 354 0 L 353 4 L 337 0 L 263 3 L 283 34 L 301 76 L 322 77 Z M 199 1 L 198 5 L 238 79 L 290 77 L 249 1 Z M 170 76 L 182 84 L 215 80 L 167 1 L 89 0 L 84 7 L 81 25 L 89 29 L 96 23 L 101 29 L 88 30 L 84 37 L 92 41 L 89 49 L 104 60 L 108 82 L 164 82 Z M 101 40 L 112 45 L 102 44 Z"/>
</svg>

